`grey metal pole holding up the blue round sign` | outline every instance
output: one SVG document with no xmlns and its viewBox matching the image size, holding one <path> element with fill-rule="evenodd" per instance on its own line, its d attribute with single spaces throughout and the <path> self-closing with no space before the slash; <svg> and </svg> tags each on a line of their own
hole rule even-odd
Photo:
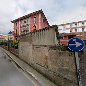
<svg viewBox="0 0 86 86">
<path fill-rule="evenodd" d="M 78 52 L 75 52 L 78 86 L 82 86 Z"/>
</svg>

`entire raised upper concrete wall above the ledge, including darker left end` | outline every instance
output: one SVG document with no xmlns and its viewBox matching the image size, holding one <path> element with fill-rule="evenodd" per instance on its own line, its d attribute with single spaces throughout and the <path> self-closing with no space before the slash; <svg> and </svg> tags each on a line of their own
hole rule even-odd
<svg viewBox="0 0 86 86">
<path fill-rule="evenodd" d="M 57 45 L 56 32 L 54 28 L 46 28 L 27 35 L 22 35 L 20 41 L 27 41 L 32 45 Z"/>
</svg>

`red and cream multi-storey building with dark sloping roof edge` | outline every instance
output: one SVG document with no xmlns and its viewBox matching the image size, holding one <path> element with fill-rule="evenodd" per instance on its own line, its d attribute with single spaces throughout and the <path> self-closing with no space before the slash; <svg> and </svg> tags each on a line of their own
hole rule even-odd
<svg viewBox="0 0 86 86">
<path fill-rule="evenodd" d="M 49 23 L 42 10 L 27 14 L 11 21 L 14 24 L 14 38 L 18 40 L 20 35 L 34 32 L 48 27 Z"/>
</svg>

